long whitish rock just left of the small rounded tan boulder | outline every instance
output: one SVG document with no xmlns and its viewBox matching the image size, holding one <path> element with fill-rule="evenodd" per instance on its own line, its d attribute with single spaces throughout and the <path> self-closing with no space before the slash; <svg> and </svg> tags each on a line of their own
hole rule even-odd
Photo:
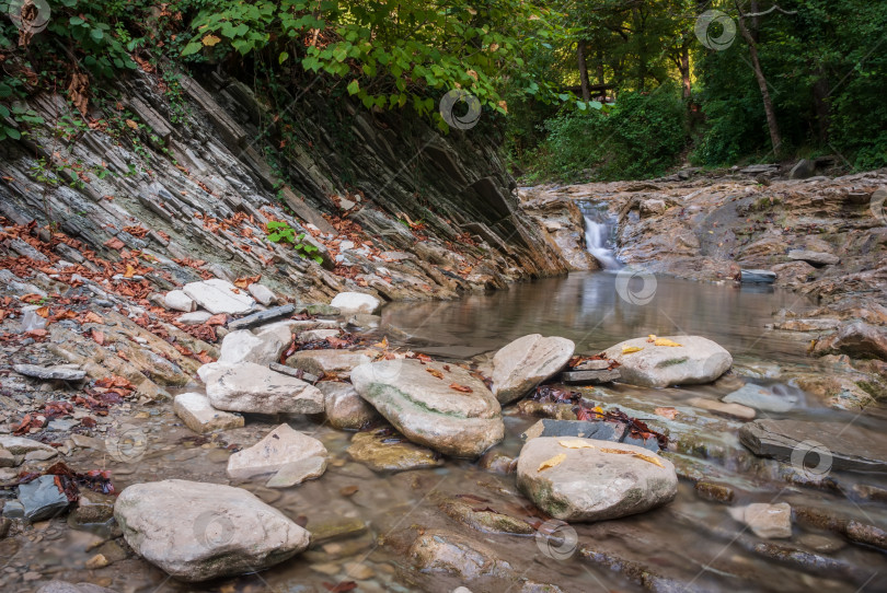
<svg viewBox="0 0 887 593">
<path fill-rule="evenodd" d="M 215 367 L 204 371 L 200 379 L 206 383 L 209 403 L 217 409 L 251 414 L 323 411 L 323 394 L 316 387 L 252 362 Z"/>
</svg>

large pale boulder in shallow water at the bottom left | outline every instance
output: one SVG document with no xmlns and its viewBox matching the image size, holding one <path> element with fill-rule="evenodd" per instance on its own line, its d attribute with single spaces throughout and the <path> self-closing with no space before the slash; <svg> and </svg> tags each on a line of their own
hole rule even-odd
<svg viewBox="0 0 887 593">
<path fill-rule="evenodd" d="M 136 484 L 120 492 L 114 518 L 136 554 L 183 581 L 256 572 L 309 543 L 280 511 L 221 484 Z"/>
</svg>

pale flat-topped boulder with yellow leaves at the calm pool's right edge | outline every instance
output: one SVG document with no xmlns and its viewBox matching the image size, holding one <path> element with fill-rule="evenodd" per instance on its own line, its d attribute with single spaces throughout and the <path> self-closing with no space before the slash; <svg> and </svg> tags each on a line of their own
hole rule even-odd
<svg viewBox="0 0 887 593">
<path fill-rule="evenodd" d="M 619 371 L 624 383 L 642 387 L 712 383 L 733 367 L 730 353 L 707 338 L 670 336 L 659 339 L 680 346 L 656 346 L 648 338 L 635 338 L 603 353 L 621 364 Z"/>
</svg>

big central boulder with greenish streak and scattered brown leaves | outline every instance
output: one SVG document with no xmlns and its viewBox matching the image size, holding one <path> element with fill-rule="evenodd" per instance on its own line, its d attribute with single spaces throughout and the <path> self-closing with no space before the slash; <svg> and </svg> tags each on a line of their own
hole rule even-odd
<svg viewBox="0 0 887 593">
<path fill-rule="evenodd" d="M 352 383 L 404 437 L 440 453 L 477 457 L 505 435 L 496 397 L 454 364 L 372 362 L 354 369 Z"/>
</svg>

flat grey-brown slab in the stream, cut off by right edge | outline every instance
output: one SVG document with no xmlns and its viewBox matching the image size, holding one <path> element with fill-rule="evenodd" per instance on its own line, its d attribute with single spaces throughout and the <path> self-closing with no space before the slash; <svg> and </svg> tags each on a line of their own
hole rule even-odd
<svg viewBox="0 0 887 593">
<path fill-rule="evenodd" d="M 887 437 L 846 422 L 761 419 L 745 425 L 739 440 L 756 455 L 815 475 L 831 469 L 887 470 Z"/>
</svg>

